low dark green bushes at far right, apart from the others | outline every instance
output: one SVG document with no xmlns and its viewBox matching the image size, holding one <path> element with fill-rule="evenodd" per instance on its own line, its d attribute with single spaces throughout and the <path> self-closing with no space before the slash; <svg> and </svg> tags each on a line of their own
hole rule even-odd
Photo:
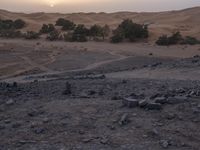
<svg viewBox="0 0 200 150">
<path fill-rule="evenodd" d="M 200 44 L 200 41 L 191 36 L 183 37 L 180 32 L 175 32 L 171 36 L 167 35 L 160 36 L 156 41 L 156 44 L 161 46 L 169 46 L 176 44 L 195 45 L 195 44 Z"/>
</svg>

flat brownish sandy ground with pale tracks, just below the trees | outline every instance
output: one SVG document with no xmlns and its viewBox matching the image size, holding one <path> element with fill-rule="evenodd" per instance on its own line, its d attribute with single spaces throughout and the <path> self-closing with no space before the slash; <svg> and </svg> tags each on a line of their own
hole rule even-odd
<svg viewBox="0 0 200 150">
<path fill-rule="evenodd" d="M 188 58 L 200 53 L 198 46 L 159 47 L 147 43 L 0 40 L 0 44 L 1 79 L 26 74 L 91 70 L 121 61 L 127 61 L 125 64 L 129 64 L 131 68 L 130 61 L 134 59 L 131 60 L 130 57 L 140 57 L 142 62 L 147 62 L 150 58 L 152 60 L 153 58 L 170 60 Z M 139 62 L 139 60 L 135 62 Z"/>
</svg>

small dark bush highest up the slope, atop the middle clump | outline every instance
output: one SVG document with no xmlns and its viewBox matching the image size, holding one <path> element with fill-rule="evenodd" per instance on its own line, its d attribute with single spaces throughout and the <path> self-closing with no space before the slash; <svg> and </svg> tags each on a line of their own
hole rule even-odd
<svg viewBox="0 0 200 150">
<path fill-rule="evenodd" d="M 66 19 L 63 19 L 63 18 L 59 18 L 59 19 L 56 21 L 56 26 L 62 26 L 62 30 L 68 31 L 68 30 L 74 30 L 74 28 L 76 27 L 76 24 L 73 23 L 73 22 L 70 21 L 70 20 L 66 20 Z"/>
</svg>

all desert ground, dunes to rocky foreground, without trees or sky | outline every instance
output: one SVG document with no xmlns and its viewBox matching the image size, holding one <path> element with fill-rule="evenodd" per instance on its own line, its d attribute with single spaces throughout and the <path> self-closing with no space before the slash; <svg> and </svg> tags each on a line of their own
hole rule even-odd
<svg viewBox="0 0 200 150">
<path fill-rule="evenodd" d="M 148 24 L 144 41 L 0 38 L 0 150 L 199 150 L 200 7 L 154 13 L 14 13 L 21 32 L 64 18 L 114 30 Z"/>
</svg>

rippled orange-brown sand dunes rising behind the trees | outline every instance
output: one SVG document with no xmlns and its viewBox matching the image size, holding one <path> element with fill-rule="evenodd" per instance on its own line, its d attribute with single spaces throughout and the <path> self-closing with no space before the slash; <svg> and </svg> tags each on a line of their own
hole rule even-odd
<svg viewBox="0 0 200 150">
<path fill-rule="evenodd" d="M 181 31 L 183 35 L 191 35 L 200 38 L 200 7 L 194 7 L 179 11 L 166 12 L 116 12 L 116 13 L 14 13 L 0 10 L 0 19 L 21 18 L 27 22 L 24 30 L 39 30 L 43 23 L 55 23 L 62 17 L 74 21 L 77 24 L 104 25 L 116 27 L 123 19 L 129 18 L 137 23 L 150 24 L 150 40 L 155 40 L 162 34 Z"/>
</svg>

